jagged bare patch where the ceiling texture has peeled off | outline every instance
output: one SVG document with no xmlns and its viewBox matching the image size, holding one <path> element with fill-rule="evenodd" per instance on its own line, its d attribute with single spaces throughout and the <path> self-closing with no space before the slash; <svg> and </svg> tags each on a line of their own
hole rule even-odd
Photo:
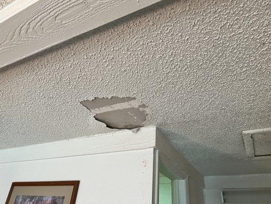
<svg viewBox="0 0 271 204">
<path fill-rule="evenodd" d="M 94 118 L 111 129 L 136 129 L 144 126 L 149 109 L 135 97 L 97 98 L 80 103 L 94 115 Z"/>
</svg>

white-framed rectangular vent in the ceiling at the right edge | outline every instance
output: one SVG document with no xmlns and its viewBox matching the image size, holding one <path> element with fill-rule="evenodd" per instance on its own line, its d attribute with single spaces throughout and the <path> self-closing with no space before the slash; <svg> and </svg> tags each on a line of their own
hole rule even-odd
<svg viewBox="0 0 271 204">
<path fill-rule="evenodd" d="M 251 159 L 271 159 L 271 127 L 243 131 L 247 155 Z"/>
</svg>

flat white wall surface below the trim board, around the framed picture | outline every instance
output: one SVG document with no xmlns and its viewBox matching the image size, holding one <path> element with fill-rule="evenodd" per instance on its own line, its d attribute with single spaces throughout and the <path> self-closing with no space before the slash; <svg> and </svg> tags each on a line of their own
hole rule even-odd
<svg viewBox="0 0 271 204">
<path fill-rule="evenodd" d="M 152 203 L 153 148 L 0 164 L 0 203 L 11 183 L 80 180 L 77 204 Z"/>
</svg>

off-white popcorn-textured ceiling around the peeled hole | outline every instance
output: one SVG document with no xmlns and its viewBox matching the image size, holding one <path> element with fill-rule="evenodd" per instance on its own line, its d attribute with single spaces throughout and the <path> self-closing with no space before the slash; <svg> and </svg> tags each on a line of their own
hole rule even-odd
<svg viewBox="0 0 271 204">
<path fill-rule="evenodd" d="M 80 101 L 136 97 L 203 175 L 270 173 L 242 130 L 271 126 L 268 0 L 162 2 L 0 72 L 0 148 L 115 130 Z"/>
</svg>

